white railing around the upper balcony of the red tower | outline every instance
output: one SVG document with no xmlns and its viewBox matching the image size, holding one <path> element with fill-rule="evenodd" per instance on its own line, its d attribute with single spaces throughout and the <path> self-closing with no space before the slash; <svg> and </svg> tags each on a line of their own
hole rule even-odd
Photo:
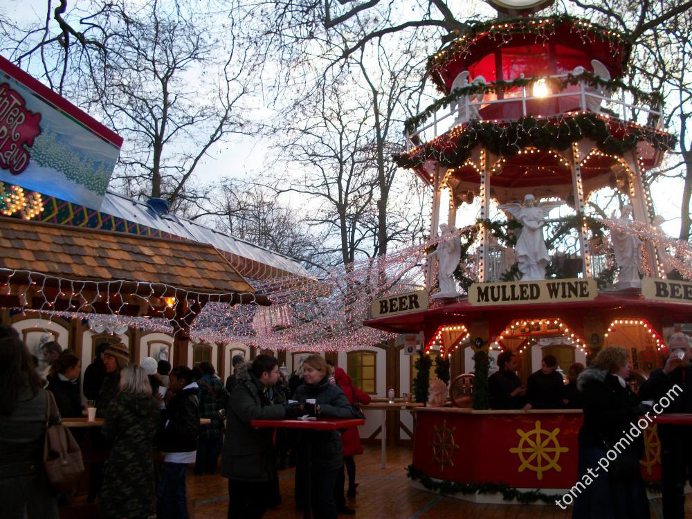
<svg viewBox="0 0 692 519">
<path fill-rule="evenodd" d="M 567 78 L 567 74 L 552 75 L 548 76 L 548 78 Z M 492 83 L 489 86 L 492 86 Z M 550 84 L 547 83 L 546 86 L 549 88 Z M 592 111 L 655 129 L 660 129 L 662 125 L 663 113 L 660 104 L 654 107 L 637 105 L 633 95 L 626 89 L 619 89 L 619 92 L 610 94 L 603 91 L 602 87 L 599 91 L 597 88 L 584 82 L 579 82 L 574 86 L 567 86 L 565 90 L 560 92 L 547 93 L 546 95 L 529 95 L 529 92 L 533 89 L 534 86 L 529 85 L 521 86 L 520 90 L 518 89 L 517 91 L 504 91 L 504 95 L 511 95 L 512 97 L 502 99 L 471 101 L 476 95 L 462 96 L 462 98 L 457 100 L 456 110 L 450 111 L 446 107 L 441 108 L 432 114 L 431 122 L 417 129 L 414 133 L 407 134 L 407 150 L 416 146 L 414 143 L 416 138 L 419 143 L 426 143 L 471 119 L 509 122 L 526 116 L 541 116 L 545 118 L 574 111 Z M 610 96 L 608 96 L 609 94 Z M 488 95 L 494 96 L 497 94 L 491 92 L 486 93 L 484 96 Z M 532 104 L 536 108 L 531 106 Z M 555 109 L 551 110 L 551 106 L 555 107 Z M 497 109 L 493 109 L 493 107 L 497 107 Z M 444 114 L 440 115 L 440 112 L 444 112 Z M 493 115 L 499 115 L 500 117 L 493 117 Z"/>
</svg>

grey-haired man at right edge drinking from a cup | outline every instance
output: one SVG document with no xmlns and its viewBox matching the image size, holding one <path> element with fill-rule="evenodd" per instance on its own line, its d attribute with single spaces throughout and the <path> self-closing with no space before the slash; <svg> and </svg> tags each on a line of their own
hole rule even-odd
<svg viewBox="0 0 692 519">
<path fill-rule="evenodd" d="M 692 412 L 690 349 L 689 336 L 680 332 L 671 335 L 668 338 L 670 355 L 666 364 L 662 369 L 652 372 L 649 379 L 641 385 L 639 397 L 650 401 L 666 397 L 670 404 L 662 410 L 664 413 Z M 682 388 L 682 394 L 673 390 L 676 385 Z M 682 519 L 685 513 L 685 482 L 692 477 L 692 453 L 688 446 L 692 427 L 659 424 L 658 435 L 661 439 L 663 515 L 666 519 Z"/>
</svg>

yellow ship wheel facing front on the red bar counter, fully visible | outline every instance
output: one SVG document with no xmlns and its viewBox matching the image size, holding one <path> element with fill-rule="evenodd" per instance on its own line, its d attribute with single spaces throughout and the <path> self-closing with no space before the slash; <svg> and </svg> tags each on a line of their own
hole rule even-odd
<svg viewBox="0 0 692 519">
<path fill-rule="evenodd" d="M 562 467 L 558 465 L 561 453 L 570 450 L 569 447 L 561 447 L 558 441 L 559 428 L 551 431 L 540 428 L 540 421 L 536 421 L 536 428 L 524 432 L 517 429 L 520 437 L 519 445 L 509 449 L 509 452 L 519 455 L 521 465 L 519 472 L 526 468 L 534 471 L 538 480 L 543 480 L 543 473 L 554 468 L 561 472 Z"/>
</svg>

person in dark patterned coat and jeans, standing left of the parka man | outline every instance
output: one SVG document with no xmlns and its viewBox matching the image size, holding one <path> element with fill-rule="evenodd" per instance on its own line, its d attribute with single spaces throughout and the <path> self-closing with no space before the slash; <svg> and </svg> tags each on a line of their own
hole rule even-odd
<svg viewBox="0 0 692 519">
<path fill-rule="evenodd" d="M 199 426 L 199 444 L 197 445 L 197 459 L 194 462 L 194 473 L 216 473 L 221 443 L 224 439 L 224 422 L 219 417 L 219 409 L 226 409 L 226 403 L 230 394 L 224 388 L 221 379 L 214 376 L 216 370 L 210 362 L 202 362 L 199 369 L 203 375 L 197 381 L 199 385 L 199 416 L 212 421 L 207 426 Z"/>
</svg>

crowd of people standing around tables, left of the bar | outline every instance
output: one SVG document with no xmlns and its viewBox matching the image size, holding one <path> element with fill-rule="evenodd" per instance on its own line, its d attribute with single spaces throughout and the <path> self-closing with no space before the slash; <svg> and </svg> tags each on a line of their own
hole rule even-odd
<svg viewBox="0 0 692 519">
<path fill-rule="evenodd" d="M 39 368 L 15 329 L 0 327 L 0 499 L 6 505 L 3 517 L 10 519 L 57 518 L 60 498 L 69 498 L 51 489 L 42 471 L 43 437 L 48 392 L 62 417 L 84 415 L 81 363 L 57 343 L 44 345 L 42 356 L 48 370 Z M 358 416 L 359 402 L 370 401 L 343 370 L 316 354 L 294 374 L 294 390 L 269 354 L 253 361 L 234 356 L 233 367 L 224 385 L 209 362 L 193 370 L 147 357 L 136 365 L 121 343 L 96 347 L 82 388 L 103 422 L 79 438 L 107 457 L 89 466 L 88 500 L 98 500 L 101 517 L 188 518 L 188 467 L 194 465 L 195 474 L 214 474 L 221 455 L 228 517 L 260 518 L 281 500 L 281 446 L 272 428 L 254 428 L 251 421 L 351 418 Z M 204 424 L 201 418 L 207 419 Z M 353 456 L 363 452 L 356 428 L 286 435 L 284 449 L 298 460 L 298 507 L 310 507 L 316 518 L 354 513 L 345 495 L 356 493 Z"/>
</svg>

